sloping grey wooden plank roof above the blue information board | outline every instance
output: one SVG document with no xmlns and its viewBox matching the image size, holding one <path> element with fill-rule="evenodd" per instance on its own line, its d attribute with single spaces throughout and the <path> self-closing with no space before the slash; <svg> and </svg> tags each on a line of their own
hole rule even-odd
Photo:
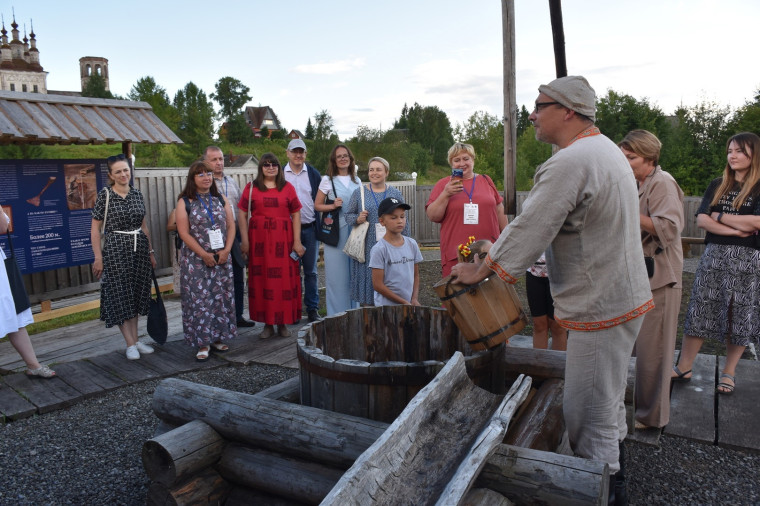
<svg viewBox="0 0 760 506">
<path fill-rule="evenodd" d="M 182 144 L 146 102 L 0 91 L 2 144 Z"/>
</svg>

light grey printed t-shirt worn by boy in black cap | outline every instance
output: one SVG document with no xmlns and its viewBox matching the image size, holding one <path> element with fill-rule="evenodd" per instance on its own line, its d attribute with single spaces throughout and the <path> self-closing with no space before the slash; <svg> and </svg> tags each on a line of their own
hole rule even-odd
<svg viewBox="0 0 760 506">
<path fill-rule="evenodd" d="M 411 237 L 402 236 L 404 244 L 393 246 L 381 238 L 372 247 L 369 254 L 371 269 L 383 269 L 383 282 L 390 291 L 411 301 L 414 290 L 414 264 L 422 262 L 422 253 L 417 241 Z M 375 292 L 376 306 L 396 306 L 394 302 Z"/>
</svg>

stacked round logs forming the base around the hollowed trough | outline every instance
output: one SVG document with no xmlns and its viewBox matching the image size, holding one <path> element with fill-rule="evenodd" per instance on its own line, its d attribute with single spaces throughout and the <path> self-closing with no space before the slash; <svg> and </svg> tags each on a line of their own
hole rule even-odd
<svg viewBox="0 0 760 506">
<path fill-rule="evenodd" d="M 153 399 L 161 433 L 143 451 L 148 504 L 320 503 L 388 424 L 277 400 L 293 400 L 298 381 L 285 383 L 254 396 L 164 380 Z M 544 381 L 515 418 L 551 419 L 559 383 Z M 515 423 L 507 437 L 553 444 L 542 430 Z M 608 476 L 600 462 L 499 444 L 460 504 L 602 504 Z"/>
</svg>

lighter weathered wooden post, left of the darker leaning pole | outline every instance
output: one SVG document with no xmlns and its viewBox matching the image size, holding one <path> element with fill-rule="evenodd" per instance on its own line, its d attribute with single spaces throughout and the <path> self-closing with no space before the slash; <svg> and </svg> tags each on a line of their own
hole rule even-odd
<svg viewBox="0 0 760 506">
<path fill-rule="evenodd" d="M 501 0 L 504 44 L 504 213 L 517 214 L 517 94 L 515 84 L 515 2 Z"/>
</svg>

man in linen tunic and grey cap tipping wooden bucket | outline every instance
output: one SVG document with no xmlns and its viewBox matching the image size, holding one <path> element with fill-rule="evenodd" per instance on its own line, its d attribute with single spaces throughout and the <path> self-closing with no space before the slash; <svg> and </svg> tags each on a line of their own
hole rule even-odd
<svg viewBox="0 0 760 506">
<path fill-rule="evenodd" d="M 628 361 L 640 316 L 653 307 L 636 182 L 620 149 L 594 126 L 596 95 L 586 79 L 562 77 L 538 91 L 530 115 L 536 139 L 560 150 L 536 171 L 522 213 L 485 262 L 458 264 L 452 274 L 473 284 L 495 272 L 514 283 L 546 250 L 555 318 L 570 331 L 563 402 L 570 445 L 609 464 L 610 501 L 626 504 Z"/>
</svg>

